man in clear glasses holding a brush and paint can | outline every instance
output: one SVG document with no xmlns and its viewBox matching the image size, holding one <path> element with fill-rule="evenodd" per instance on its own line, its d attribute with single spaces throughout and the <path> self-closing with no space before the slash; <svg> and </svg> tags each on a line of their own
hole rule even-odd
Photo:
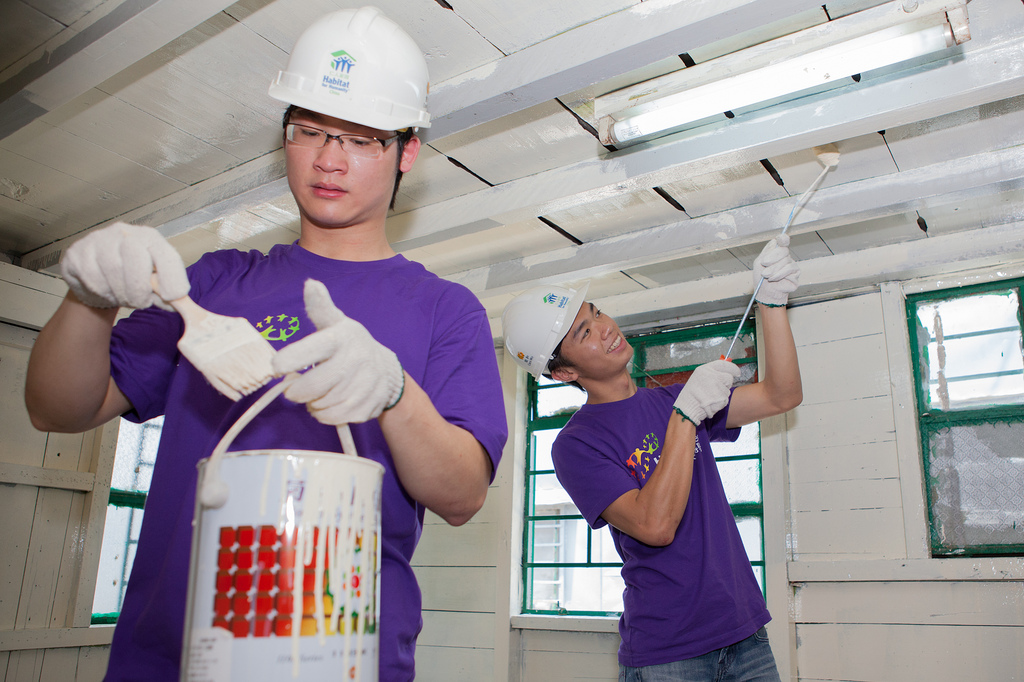
<svg viewBox="0 0 1024 682">
<path fill-rule="evenodd" d="M 338 452 L 335 427 L 351 423 L 358 454 L 385 467 L 380 679 L 413 679 L 422 619 L 410 560 L 424 510 L 454 525 L 472 517 L 507 436 L 483 307 L 396 254 L 384 231 L 420 148 L 415 129 L 429 125 L 426 91 L 422 52 L 397 25 L 372 7 L 333 12 L 303 33 L 270 86 L 289 104 L 295 244 L 208 253 L 186 275 L 156 230 L 119 223 L 66 255 L 71 292 L 30 360 L 33 423 L 81 431 L 165 415 L 106 680 L 178 679 L 196 464 L 256 397 L 232 402 L 178 355 L 180 318 L 150 307 L 160 304 L 154 270 L 165 299 L 187 294 L 250 321 L 278 350 L 279 376 L 314 366 L 232 450 Z M 122 305 L 144 309 L 112 332 Z"/>
</svg>

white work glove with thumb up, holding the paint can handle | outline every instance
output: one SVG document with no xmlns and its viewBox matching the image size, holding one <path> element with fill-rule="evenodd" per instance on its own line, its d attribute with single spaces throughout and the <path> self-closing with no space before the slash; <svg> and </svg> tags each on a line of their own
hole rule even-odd
<svg viewBox="0 0 1024 682">
<path fill-rule="evenodd" d="M 306 280 L 303 298 L 318 331 L 279 350 L 273 371 L 312 367 L 285 389 L 285 397 L 306 403 L 316 421 L 334 426 L 366 422 L 393 408 L 406 385 L 398 356 L 339 310 L 322 282 Z"/>
</svg>

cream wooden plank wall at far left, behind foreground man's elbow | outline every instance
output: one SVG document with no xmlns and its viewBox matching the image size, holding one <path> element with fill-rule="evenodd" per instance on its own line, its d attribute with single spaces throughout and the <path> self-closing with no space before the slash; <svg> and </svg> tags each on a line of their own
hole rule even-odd
<svg viewBox="0 0 1024 682">
<path fill-rule="evenodd" d="M 90 629 L 113 450 L 41 433 L 25 409 L 36 330 L 63 285 L 0 263 L 0 679 L 98 682 L 110 629 Z M 109 460 L 109 461 L 108 461 Z M 106 473 L 96 475 L 97 467 Z M 98 491 L 98 492 L 97 492 Z M 90 522 L 91 519 L 91 522 Z"/>
</svg>

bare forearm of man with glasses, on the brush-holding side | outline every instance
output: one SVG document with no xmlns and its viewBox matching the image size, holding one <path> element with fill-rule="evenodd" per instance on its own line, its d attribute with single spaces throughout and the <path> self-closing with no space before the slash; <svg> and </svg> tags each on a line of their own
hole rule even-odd
<svg viewBox="0 0 1024 682">
<path fill-rule="evenodd" d="M 40 431 L 77 433 L 131 409 L 111 378 L 118 308 L 94 308 L 69 292 L 29 355 L 25 403 Z"/>
</svg>

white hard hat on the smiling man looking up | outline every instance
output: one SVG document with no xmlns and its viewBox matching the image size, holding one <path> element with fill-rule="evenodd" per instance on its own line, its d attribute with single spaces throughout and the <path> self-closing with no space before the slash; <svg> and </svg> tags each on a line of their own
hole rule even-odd
<svg viewBox="0 0 1024 682">
<path fill-rule="evenodd" d="M 539 378 L 548 371 L 555 346 L 561 343 L 583 307 L 587 287 L 538 287 L 509 301 L 502 313 L 505 348 L 516 365 Z"/>
</svg>

